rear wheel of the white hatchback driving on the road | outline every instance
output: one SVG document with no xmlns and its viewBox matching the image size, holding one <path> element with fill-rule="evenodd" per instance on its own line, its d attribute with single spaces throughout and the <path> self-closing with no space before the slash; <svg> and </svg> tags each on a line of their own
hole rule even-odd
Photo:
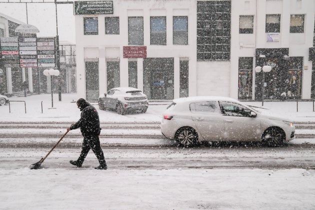
<svg viewBox="0 0 315 210">
<path fill-rule="evenodd" d="M 198 140 L 198 134 L 192 127 L 181 127 L 175 133 L 176 141 L 183 146 L 195 145 Z"/>
</svg>

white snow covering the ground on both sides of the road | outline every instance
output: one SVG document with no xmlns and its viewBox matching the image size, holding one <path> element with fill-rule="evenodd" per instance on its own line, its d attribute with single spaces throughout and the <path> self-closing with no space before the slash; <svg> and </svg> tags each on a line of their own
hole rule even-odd
<svg viewBox="0 0 315 210">
<path fill-rule="evenodd" d="M 62 94 L 61 102 L 54 95 L 54 109 L 49 109 L 50 94 L 9 99 L 25 100 L 26 114 L 23 102 L 12 102 L 11 113 L 8 105 L 0 106 L 0 121 L 72 123 L 80 114 L 72 102 L 77 100 L 75 94 Z M 102 122 L 159 122 L 165 107 L 150 105 L 147 113 L 124 116 L 99 110 L 99 116 Z M 296 102 L 265 102 L 263 107 L 294 121 L 315 121 L 311 102 L 299 102 L 298 112 Z M 0 148 L 0 159 L 12 156 L 14 160 L 1 163 L 11 168 L 0 168 L 0 209 L 315 209 L 314 169 L 30 170 L 28 165 L 19 166 L 25 158 L 39 160 L 40 155 L 41 151 L 29 149 L 14 156 Z M 57 152 L 51 158 L 56 156 Z"/>
</svg>

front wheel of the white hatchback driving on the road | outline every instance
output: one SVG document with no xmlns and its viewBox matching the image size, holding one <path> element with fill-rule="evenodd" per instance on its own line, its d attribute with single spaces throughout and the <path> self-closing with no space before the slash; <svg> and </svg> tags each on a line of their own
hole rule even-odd
<svg viewBox="0 0 315 210">
<path fill-rule="evenodd" d="M 266 146 L 281 146 L 284 144 L 284 140 L 284 131 L 277 127 L 269 127 L 261 136 L 261 141 Z"/>
</svg>

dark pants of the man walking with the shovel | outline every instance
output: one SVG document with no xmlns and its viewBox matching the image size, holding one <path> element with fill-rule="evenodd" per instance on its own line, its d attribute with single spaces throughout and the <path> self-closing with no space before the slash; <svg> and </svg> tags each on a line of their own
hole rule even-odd
<svg viewBox="0 0 315 210">
<path fill-rule="evenodd" d="M 82 150 L 80 156 L 77 159 L 77 163 L 82 165 L 88 151 L 92 149 L 98 159 L 99 165 L 105 165 L 106 162 L 104 158 L 104 153 L 100 147 L 98 135 L 86 135 L 83 137 Z"/>
</svg>

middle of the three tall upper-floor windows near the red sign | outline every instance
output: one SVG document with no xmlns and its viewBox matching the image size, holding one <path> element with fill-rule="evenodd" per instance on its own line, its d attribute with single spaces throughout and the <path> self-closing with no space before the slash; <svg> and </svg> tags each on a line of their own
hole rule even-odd
<svg viewBox="0 0 315 210">
<path fill-rule="evenodd" d="M 150 44 L 166 45 L 166 17 L 150 17 Z"/>
</svg>

